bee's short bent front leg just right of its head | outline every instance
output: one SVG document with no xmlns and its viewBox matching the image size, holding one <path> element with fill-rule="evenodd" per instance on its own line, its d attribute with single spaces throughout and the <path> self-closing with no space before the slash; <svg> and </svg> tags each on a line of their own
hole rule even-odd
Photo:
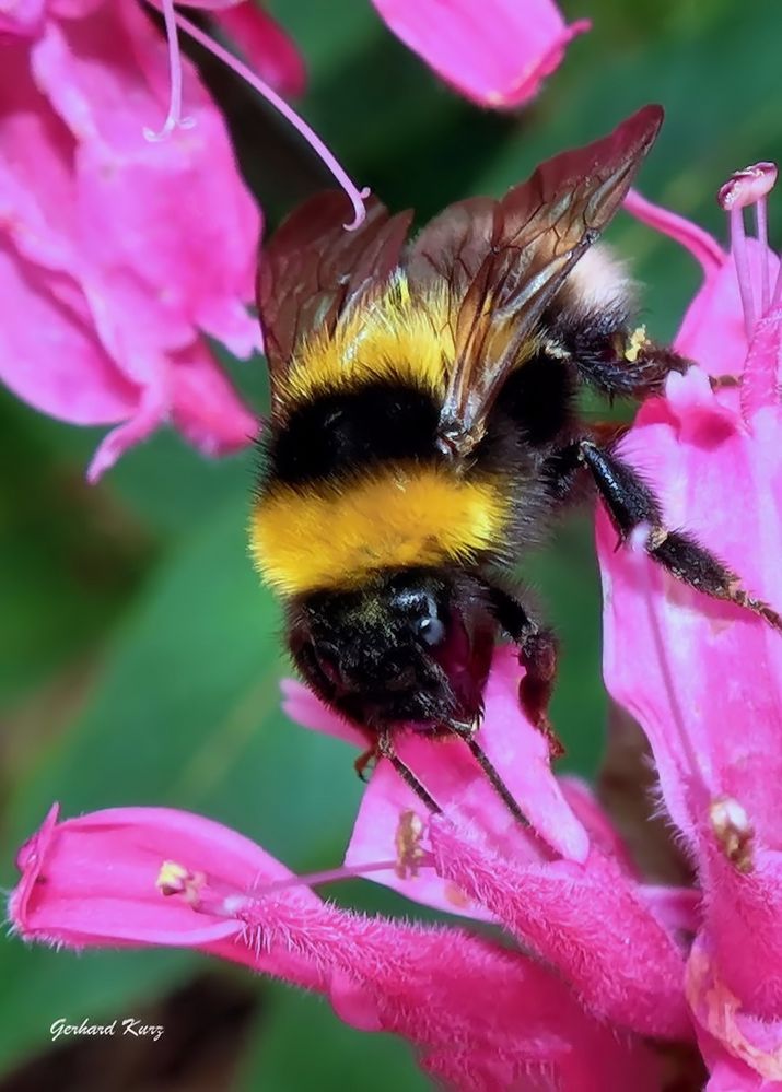
<svg viewBox="0 0 782 1092">
<path fill-rule="evenodd" d="M 518 646 L 518 662 L 525 669 L 518 684 L 518 701 L 528 719 L 546 736 L 552 759 L 564 754 L 548 715 L 557 677 L 558 642 L 550 630 L 540 629 L 520 602 L 502 588 L 489 589 L 494 617 Z"/>
</svg>

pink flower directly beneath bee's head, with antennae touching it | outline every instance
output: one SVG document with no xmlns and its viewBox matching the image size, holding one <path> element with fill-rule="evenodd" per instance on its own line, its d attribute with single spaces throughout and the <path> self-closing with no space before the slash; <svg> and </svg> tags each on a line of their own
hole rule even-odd
<svg viewBox="0 0 782 1092">
<path fill-rule="evenodd" d="M 686 953 L 677 930 L 691 924 L 691 892 L 644 885 L 586 787 L 553 776 L 548 740 L 518 708 L 521 676 L 513 650 L 498 650 L 478 738 L 529 827 L 520 827 L 460 740 L 410 732 L 398 740 L 399 758 L 442 814 L 424 814 L 381 760 L 346 862 L 393 856 L 407 837 L 433 868 L 389 868 L 371 879 L 418 902 L 500 921 L 590 1012 L 615 1026 L 687 1038 Z M 294 719 L 360 742 L 303 686 L 289 682 L 285 691 Z"/>
</svg>

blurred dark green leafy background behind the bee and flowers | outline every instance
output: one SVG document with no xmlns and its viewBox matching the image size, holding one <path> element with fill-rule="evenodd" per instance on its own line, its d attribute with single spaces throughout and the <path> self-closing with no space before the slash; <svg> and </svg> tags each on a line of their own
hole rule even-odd
<svg viewBox="0 0 782 1092">
<path fill-rule="evenodd" d="M 590 16 L 594 28 L 515 117 L 445 90 L 369 0 L 271 8 L 308 62 L 304 115 L 360 184 L 421 218 L 502 192 L 539 158 L 652 101 L 667 121 L 642 190 L 721 237 L 717 186 L 735 167 L 782 156 L 779 0 L 570 0 L 569 20 Z M 279 119 L 213 64 L 206 71 L 273 225 L 326 179 Z M 778 240 L 781 219 L 782 201 L 771 209 Z M 695 265 L 627 216 L 609 237 L 647 286 L 651 331 L 670 337 L 698 284 Z M 229 367 L 262 408 L 262 362 Z M 160 434 L 90 489 L 96 430 L 40 418 L 7 394 L 0 414 L 0 882 L 13 884 L 15 847 L 54 799 L 66 814 L 192 809 L 293 869 L 338 864 L 361 786 L 345 745 L 279 711 L 279 619 L 244 542 L 253 456 L 207 462 Z M 592 775 L 606 701 L 588 514 L 570 518 L 527 573 L 563 638 L 563 766 Z M 329 893 L 418 913 L 369 883 Z M 77 958 L 3 940 L 0 984 L 5 1090 L 425 1087 L 404 1045 L 343 1026 L 318 999 L 186 953 Z M 49 1044 L 58 1017 L 117 1014 L 163 1020 L 166 1035 L 149 1048 Z"/>
</svg>

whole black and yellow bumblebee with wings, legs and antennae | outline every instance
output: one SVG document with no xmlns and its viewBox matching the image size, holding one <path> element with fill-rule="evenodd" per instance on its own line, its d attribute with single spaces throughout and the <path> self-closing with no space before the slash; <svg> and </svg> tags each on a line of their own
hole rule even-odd
<svg viewBox="0 0 782 1092">
<path fill-rule="evenodd" d="M 411 213 L 305 202 L 269 242 L 258 307 L 271 415 L 250 551 L 282 597 L 299 671 L 431 807 L 394 752 L 401 726 L 455 732 L 518 808 L 475 732 L 492 650 L 518 648 L 522 706 L 548 730 L 556 641 L 513 572 L 552 516 L 596 486 L 627 538 L 691 586 L 775 615 L 687 535 L 576 410 L 588 385 L 641 400 L 688 362 L 632 321 L 599 234 L 662 124 L 647 106 L 557 155 L 500 200 Z M 777 619 L 777 622 L 779 620 Z"/>
</svg>

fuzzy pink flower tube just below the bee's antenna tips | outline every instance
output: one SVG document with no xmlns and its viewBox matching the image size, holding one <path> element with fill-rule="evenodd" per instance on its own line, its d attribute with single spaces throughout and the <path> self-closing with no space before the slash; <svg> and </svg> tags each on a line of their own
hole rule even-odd
<svg viewBox="0 0 782 1092">
<path fill-rule="evenodd" d="M 437 871 L 491 911 L 598 1017 L 644 1035 L 688 1038 L 682 952 L 616 862 L 529 865 L 489 848 L 462 817 L 435 815 Z"/>
</svg>

